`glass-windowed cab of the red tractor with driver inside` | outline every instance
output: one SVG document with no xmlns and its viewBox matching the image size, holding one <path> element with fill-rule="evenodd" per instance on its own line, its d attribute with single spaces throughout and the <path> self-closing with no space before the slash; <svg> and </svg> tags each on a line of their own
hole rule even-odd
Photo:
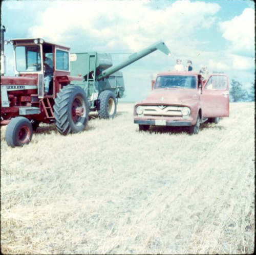
<svg viewBox="0 0 256 255">
<path fill-rule="evenodd" d="M 70 75 L 70 48 L 42 38 L 5 41 L 8 43 L 14 47 L 15 76 L 37 85 L 38 98 L 55 98 L 62 85 L 56 77 Z"/>
</svg>

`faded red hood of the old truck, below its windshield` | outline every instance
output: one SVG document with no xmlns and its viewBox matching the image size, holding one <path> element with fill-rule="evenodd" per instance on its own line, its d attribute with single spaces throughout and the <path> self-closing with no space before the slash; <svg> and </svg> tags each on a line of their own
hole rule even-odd
<svg viewBox="0 0 256 255">
<path fill-rule="evenodd" d="M 175 104 L 182 105 L 191 100 L 200 100 L 196 89 L 154 89 L 141 104 Z"/>
</svg>

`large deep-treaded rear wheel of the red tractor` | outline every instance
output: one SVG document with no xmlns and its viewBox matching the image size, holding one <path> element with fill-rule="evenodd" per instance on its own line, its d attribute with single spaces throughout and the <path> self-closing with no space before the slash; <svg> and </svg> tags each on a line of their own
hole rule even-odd
<svg viewBox="0 0 256 255">
<path fill-rule="evenodd" d="M 86 93 L 79 86 L 60 89 L 54 100 L 54 117 L 57 130 L 63 134 L 78 133 L 86 127 L 89 106 Z"/>
</svg>

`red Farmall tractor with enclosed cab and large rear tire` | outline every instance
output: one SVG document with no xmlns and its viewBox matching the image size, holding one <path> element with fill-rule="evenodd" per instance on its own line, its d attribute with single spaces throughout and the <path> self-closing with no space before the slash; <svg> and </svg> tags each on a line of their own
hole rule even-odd
<svg viewBox="0 0 256 255">
<path fill-rule="evenodd" d="M 67 86 L 82 81 L 70 75 L 70 48 L 41 38 L 4 41 L 4 32 L 1 29 L 1 125 L 8 124 L 7 144 L 28 144 L 41 122 L 55 122 L 62 134 L 83 130 L 88 100 L 80 86 Z M 15 77 L 4 76 L 4 44 L 8 43 L 14 47 Z"/>
</svg>

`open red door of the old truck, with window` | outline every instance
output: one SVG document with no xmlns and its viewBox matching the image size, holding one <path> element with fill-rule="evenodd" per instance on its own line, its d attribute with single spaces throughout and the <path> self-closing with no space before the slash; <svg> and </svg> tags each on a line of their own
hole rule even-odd
<svg viewBox="0 0 256 255">
<path fill-rule="evenodd" d="M 229 90 L 226 75 L 213 74 L 203 84 L 201 94 L 204 118 L 229 116 Z"/>
</svg>

